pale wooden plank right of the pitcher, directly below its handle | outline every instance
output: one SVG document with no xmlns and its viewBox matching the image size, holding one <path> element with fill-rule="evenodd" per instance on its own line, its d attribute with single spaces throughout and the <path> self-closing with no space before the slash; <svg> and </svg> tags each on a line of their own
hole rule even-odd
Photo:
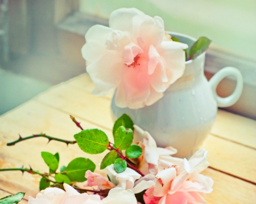
<svg viewBox="0 0 256 204">
<path fill-rule="evenodd" d="M 218 110 L 212 134 L 256 148 L 256 121 Z"/>
</svg>

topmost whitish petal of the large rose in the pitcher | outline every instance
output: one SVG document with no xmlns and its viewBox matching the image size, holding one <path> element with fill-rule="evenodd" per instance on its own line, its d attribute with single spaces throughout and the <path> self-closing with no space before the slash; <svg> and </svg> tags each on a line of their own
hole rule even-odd
<svg viewBox="0 0 256 204">
<path fill-rule="evenodd" d="M 143 15 L 137 8 L 119 8 L 109 17 L 109 27 L 119 31 L 133 31 L 133 16 Z"/>
</svg>

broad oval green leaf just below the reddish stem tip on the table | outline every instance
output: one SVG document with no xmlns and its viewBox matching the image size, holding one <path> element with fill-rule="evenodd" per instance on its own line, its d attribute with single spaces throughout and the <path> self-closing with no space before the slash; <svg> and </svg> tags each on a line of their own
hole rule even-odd
<svg viewBox="0 0 256 204">
<path fill-rule="evenodd" d="M 82 130 L 80 133 L 75 134 L 74 137 L 81 150 L 89 154 L 100 154 L 109 145 L 108 136 L 104 131 L 98 129 Z"/>
</svg>

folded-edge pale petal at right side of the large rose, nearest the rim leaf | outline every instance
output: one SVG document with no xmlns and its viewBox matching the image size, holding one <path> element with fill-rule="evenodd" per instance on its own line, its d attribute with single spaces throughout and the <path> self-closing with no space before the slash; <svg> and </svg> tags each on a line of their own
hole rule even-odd
<svg viewBox="0 0 256 204">
<path fill-rule="evenodd" d="M 166 62 L 166 73 L 168 82 L 166 87 L 179 79 L 185 70 L 185 52 L 183 49 L 188 48 L 187 44 L 175 41 L 163 41 L 158 52 Z"/>
</svg>

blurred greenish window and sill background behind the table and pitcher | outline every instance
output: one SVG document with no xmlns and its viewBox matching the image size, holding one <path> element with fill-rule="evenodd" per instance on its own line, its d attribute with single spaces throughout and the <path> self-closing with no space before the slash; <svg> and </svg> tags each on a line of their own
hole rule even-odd
<svg viewBox="0 0 256 204">
<path fill-rule="evenodd" d="M 224 66 L 240 69 L 245 88 L 229 111 L 256 119 L 255 0 L 0 0 L 0 115 L 49 87 L 85 73 L 80 49 L 94 24 L 108 25 L 110 13 L 136 7 L 161 16 L 166 31 L 213 42 L 205 75 Z M 232 93 L 225 79 L 218 94 Z"/>
</svg>

